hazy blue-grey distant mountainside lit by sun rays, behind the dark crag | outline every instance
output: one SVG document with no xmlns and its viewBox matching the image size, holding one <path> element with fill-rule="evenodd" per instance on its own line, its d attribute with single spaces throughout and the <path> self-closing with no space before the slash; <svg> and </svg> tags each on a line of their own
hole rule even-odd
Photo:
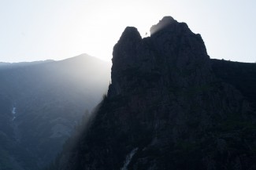
<svg viewBox="0 0 256 170">
<path fill-rule="evenodd" d="M 110 64 L 88 55 L 0 67 L 0 169 L 43 168 L 107 92 Z"/>
</svg>

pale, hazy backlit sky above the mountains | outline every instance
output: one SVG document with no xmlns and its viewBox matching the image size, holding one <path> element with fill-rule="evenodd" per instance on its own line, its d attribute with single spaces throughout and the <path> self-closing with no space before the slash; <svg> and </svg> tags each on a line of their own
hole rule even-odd
<svg viewBox="0 0 256 170">
<path fill-rule="evenodd" d="M 201 34 L 211 58 L 256 61 L 255 0 L 0 0 L 0 61 L 110 60 L 125 27 L 144 35 L 163 16 Z"/>
</svg>

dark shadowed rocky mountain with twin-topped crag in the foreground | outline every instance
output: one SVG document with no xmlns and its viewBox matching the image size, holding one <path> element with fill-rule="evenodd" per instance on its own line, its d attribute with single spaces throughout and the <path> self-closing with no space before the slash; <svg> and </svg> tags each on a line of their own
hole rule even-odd
<svg viewBox="0 0 256 170">
<path fill-rule="evenodd" d="M 254 97 L 223 80 L 187 24 L 166 16 L 150 34 L 124 30 L 107 96 L 53 168 L 256 169 Z"/>
</svg>

